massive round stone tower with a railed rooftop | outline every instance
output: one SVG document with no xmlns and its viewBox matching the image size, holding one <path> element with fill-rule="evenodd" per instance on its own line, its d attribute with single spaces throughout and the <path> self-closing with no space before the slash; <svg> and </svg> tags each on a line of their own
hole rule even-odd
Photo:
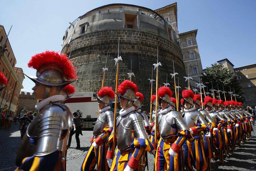
<svg viewBox="0 0 256 171">
<path fill-rule="evenodd" d="M 170 76 L 173 62 L 175 72 L 179 73 L 180 86 L 186 86 L 181 48 L 169 22 L 146 7 L 109 4 L 80 16 L 63 37 L 62 52 L 67 51 L 77 67 L 79 79 L 73 83 L 76 92 L 97 92 L 101 88 L 102 68 L 105 65 L 108 71 L 104 86 L 115 87 L 116 66 L 113 59 L 118 55 L 118 39 L 119 56 L 123 59 L 119 64 L 119 82 L 128 79 L 127 73 L 131 70 L 135 75 L 132 81 L 138 84 L 147 105 L 151 90 L 148 79 L 151 78 L 153 64 L 157 62 L 157 54 L 158 62 L 162 64 L 159 67 L 159 86 L 163 86 L 162 83 L 168 79 L 174 91 L 174 80 Z M 155 78 L 156 73 L 153 72 Z"/>
</svg>

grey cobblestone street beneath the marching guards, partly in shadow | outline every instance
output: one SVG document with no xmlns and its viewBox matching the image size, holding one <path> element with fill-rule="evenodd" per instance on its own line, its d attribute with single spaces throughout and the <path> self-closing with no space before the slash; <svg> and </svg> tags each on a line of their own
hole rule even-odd
<svg viewBox="0 0 256 171">
<path fill-rule="evenodd" d="M 256 130 L 256 126 L 253 126 Z M 75 136 L 72 138 L 71 147 L 67 153 L 67 171 L 80 170 L 81 164 L 89 148 L 89 139 L 93 131 L 83 131 L 80 135 L 81 148 L 75 149 Z M 15 157 L 20 143 L 18 125 L 12 125 L 10 130 L 0 130 L 0 171 L 13 171 L 15 169 Z M 236 147 L 236 152 L 230 151 L 230 158 L 225 159 L 225 165 L 219 166 L 218 161 L 212 161 L 212 170 L 217 171 L 248 171 L 256 170 L 256 136 L 252 132 L 250 141 L 245 141 L 241 148 Z M 153 155 L 148 154 L 149 170 L 153 170 Z"/>
</svg>

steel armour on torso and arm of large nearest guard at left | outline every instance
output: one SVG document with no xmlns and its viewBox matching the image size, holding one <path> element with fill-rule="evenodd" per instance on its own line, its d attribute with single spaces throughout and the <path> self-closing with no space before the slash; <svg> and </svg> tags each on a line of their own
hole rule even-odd
<svg viewBox="0 0 256 171">
<path fill-rule="evenodd" d="M 55 103 L 57 104 L 57 102 Z M 39 113 L 39 125 L 28 126 L 28 137 L 37 137 L 35 156 L 44 156 L 58 150 L 61 131 L 72 126 L 72 114 L 63 104 L 47 105 Z M 64 109 L 64 110 L 63 110 Z M 34 129 L 37 128 L 37 133 Z"/>
</svg>

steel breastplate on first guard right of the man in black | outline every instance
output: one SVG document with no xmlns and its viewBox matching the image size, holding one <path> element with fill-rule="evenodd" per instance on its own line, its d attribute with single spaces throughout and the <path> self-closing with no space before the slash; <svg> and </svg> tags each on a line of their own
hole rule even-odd
<svg viewBox="0 0 256 171">
<path fill-rule="evenodd" d="M 106 110 L 99 114 L 93 129 L 93 135 L 102 133 L 106 126 L 114 126 L 114 114 L 111 110 Z"/>
</svg>

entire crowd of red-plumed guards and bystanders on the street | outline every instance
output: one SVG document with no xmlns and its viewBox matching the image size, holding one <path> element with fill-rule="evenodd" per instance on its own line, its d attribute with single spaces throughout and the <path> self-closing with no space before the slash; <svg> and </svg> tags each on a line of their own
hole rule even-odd
<svg viewBox="0 0 256 171">
<path fill-rule="evenodd" d="M 65 105 L 75 92 L 70 84 L 77 79 L 75 67 L 66 55 L 54 51 L 34 55 L 28 66 L 37 70 L 37 77 L 27 77 L 35 83 L 32 90 L 41 101 L 35 106 L 39 111 L 35 118 L 30 112 L 22 118 L 26 124 L 16 170 L 66 170 L 72 135 L 80 148 L 82 134 L 77 112 L 72 116 Z M 210 171 L 211 159 L 225 165 L 229 151 L 250 140 L 254 114 L 244 110 L 242 103 L 202 99 L 183 90 L 179 111 L 169 87 L 157 92 L 151 98 L 153 111 L 148 120 L 141 111 L 144 96 L 132 81 L 120 83 L 116 94 L 111 87 L 98 91 L 99 114 L 81 171 L 145 170 L 147 153 L 155 157 L 155 171 Z M 114 97 L 121 107 L 116 118 L 110 107 Z"/>
</svg>

